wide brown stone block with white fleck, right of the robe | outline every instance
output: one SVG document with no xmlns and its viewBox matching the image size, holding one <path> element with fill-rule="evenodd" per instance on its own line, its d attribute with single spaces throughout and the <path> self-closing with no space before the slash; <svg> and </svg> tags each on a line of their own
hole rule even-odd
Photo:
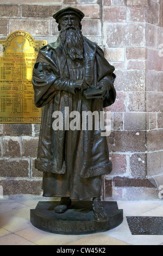
<svg viewBox="0 0 163 256">
<path fill-rule="evenodd" d="M 110 153 L 146 151 L 146 131 L 112 131 L 107 140 Z"/>
</svg>

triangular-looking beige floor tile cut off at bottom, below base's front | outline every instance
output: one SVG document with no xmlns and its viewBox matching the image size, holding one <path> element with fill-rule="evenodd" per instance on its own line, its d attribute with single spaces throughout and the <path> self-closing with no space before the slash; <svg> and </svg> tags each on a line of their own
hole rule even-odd
<svg viewBox="0 0 163 256">
<path fill-rule="evenodd" d="M 76 242 L 70 243 L 69 245 L 129 245 L 126 242 L 114 239 L 107 235 L 97 233 L 89 235 L 82 239 L 77 240 Z"/>
</svg>

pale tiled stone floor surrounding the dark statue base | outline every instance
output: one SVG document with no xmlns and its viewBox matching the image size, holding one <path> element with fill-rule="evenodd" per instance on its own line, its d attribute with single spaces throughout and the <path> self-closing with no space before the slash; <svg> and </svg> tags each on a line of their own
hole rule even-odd
<svg viewBox="0 0 163 256">
<path fill-rule="evenodd" d="M 117 228 L 92 235 L 58 235 L 36 229 L 30 209 L 36 201 L 0 201 L 0 245 L 163 245 L 163 235 L 131 235 L 126 216 L 163 216 L 163 201 L 119 201 L 124 220 Z"/>
</svg>

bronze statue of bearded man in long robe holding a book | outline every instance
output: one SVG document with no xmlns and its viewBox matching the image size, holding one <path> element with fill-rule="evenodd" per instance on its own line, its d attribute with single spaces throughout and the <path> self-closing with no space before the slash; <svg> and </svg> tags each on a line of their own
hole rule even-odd
<svg viewBox="0 0 163 256">
<path fill-rule="evenodd" d="M 116 98 L 115 69 L 102 49 L 82 35 L 82 11 L 67 7 L 53 17 L 60 34 L 40 49 L 33 70 L 35 105 L 43 107 L 35 168 L 43 172 L 43 196 L 61 197 L 55 212 L 65 212 L 71 199 L 93 198 L 95 221 L 106 221 L 102 175 L 112 168 L 106 137 L 100 129 L 54 130 L 52 115 L 65 113 L 65 107 L 82 114 L 110 106 Z M 65 118 L 62 122 L 65 127 Z"/>
</svg>

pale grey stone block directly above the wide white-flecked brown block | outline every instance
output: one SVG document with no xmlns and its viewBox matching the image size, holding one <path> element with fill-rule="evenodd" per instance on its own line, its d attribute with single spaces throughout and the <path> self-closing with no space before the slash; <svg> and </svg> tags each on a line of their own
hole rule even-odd
<svg viewBox="0 0 163 256">
<path fill-rule="evenodd" d="M 124 130 L 146 130 L 146 113 L 124 113 Z"/>
</svg>

